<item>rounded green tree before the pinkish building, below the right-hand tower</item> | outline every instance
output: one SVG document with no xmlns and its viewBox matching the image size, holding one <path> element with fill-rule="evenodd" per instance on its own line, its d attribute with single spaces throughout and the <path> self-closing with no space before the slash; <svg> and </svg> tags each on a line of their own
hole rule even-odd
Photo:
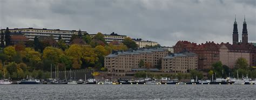
<svg viewBox="0 0 256 100">
<path fill-rule="evenodd" d="M 248 69 L 248 61 L 245 58 L 239 58 L 235 61 L 235 69 Z"/>
</svg>

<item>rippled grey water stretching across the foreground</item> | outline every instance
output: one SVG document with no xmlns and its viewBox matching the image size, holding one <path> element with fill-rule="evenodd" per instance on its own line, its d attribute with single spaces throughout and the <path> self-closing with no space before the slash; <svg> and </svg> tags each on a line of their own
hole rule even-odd
<svg viewBox="0 0 256 100">
<path fill-rule="evenodd" d="M 126 98 L 254 98 L 256 85 L 99 85 L 11 84 L 0 85 L 3 99 L 126 99 Z"/>
</svg>

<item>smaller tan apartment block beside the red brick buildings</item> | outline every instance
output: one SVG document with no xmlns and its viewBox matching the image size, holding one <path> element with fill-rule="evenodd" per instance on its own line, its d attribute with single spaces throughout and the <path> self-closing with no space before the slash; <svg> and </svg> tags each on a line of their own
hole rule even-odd
<svg viewBox="0 0 256 100">
<path fill-rule="evenodd" d="M 162 72 L 188 73 L 189 70 L 198 68 L 198 56 L 191 52 L 174 53 L 165 56 L 161 63 Z"/>
</svg>

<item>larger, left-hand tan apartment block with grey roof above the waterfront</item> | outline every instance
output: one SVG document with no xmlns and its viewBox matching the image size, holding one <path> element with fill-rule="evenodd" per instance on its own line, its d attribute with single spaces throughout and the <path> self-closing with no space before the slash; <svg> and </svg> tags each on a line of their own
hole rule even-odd
<svg viewBox="0 0 256 100">
<path fill-rule="evenodd" d="M 108 74 L 117 76 L 128 75 L 133 70 L 154 68 L 161 58 L 168 55 L 167 49 L 149 48 L 138 49 L 137 51 L 112 52 L 105 56 L 104 67 Z M 139 66 L 139 62 L 143 60 L 145 66 Z"/>
</svg>

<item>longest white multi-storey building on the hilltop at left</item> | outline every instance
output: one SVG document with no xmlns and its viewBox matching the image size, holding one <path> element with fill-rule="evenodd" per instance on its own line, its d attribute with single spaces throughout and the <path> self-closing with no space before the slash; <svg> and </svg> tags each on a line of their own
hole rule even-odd
<svg viewBox="0 0 256 100">
<path fill-rule="evenodd" d="M 3 30 L 5 32 L 5 30 Z M 24 34 L 26 38 L 29 40 L 33 40 L 36 36 L 37 37 L 52 37 L 58 41 L 59 35 L 62 37 L 62 39 L 65 40 L 65 42 L 70 42 L 70 39 L 72 37 L 72 34 L 78 34 L 79 31 L 76 30 L 51 30 L 51 29 L 46 29 L 46 28 L 14 28 L 10 29 L 11 33 L 20 33 Z M 86 31 L 81 31 L 82 34 L 87 33 Z"/>
</svg>

